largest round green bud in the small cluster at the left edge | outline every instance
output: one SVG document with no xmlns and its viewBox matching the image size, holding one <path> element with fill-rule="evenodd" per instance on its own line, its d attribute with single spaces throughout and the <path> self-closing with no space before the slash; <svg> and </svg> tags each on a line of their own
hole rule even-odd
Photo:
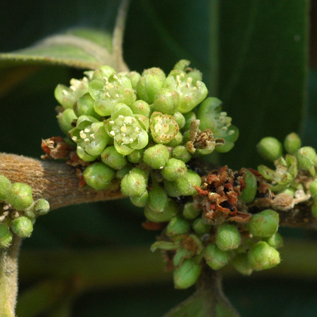
<svg viewBox="0 0 317 317">
<path fill-rule="evenodd" d="M 6 201 L 16 210 L 25 210 L 33 203 L 32 188 L 22 182 L 15 182 L 8 190 Z"/>
</svg>

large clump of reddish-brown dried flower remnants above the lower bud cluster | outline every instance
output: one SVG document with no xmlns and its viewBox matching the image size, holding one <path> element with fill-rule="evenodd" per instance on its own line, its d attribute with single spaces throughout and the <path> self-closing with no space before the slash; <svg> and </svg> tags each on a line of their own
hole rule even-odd
<svg viewBox="0 0 317 317">
<path fill-rule="evenodd" d="M 213 170 L 202 177 L 201 187 L 194 197 L 196 208 L 203 209 L 203 217 L 207 223 L 220 224 L 223 221 L 247 223 L 251 214 L 238 197 L 245 188 L 245 169 L 233 172 L 227 166 Z"/>
</svg>

